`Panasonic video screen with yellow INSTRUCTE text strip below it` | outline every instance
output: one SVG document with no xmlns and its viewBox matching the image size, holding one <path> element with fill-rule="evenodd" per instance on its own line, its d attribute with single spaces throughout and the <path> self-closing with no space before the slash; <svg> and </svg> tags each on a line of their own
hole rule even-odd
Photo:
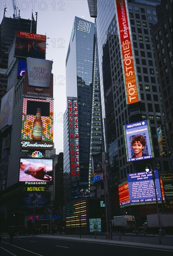
<svg viewBox="0 0 173 256">
<path fill-rule="evenodd" d="M 45 191 L 44 185 L 52 182 L 53 159 L 43 158 L 20 158 L 19 181 L 30 185 L 39 185 L 42 189 L 31 189 L 30 191 Z M 42 186 L 43 185 L 43 186 Z M 29 191 L 29 190 L 27 190 Z"/>
</svg>

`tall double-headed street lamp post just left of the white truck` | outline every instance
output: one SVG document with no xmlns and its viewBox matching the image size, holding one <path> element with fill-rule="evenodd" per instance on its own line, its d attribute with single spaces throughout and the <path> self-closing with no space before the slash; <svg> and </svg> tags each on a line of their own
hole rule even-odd
<svg viewBox="0 0 173 256">
<path fill-rule="evenodd" d="M 109 164 L 108 160 L 105 159 L 104 164 L 98 162 L 97 169 L 100 169 L 101 165 L 101 172 L 103 172 L 103 182 L 104 182 L 104 194 L 105 194 L 105 212 L 106 212 L 106 239 L 108 238 L 109 234 L 109 221 L 108 221 L 108 209 L 107 209 L 107 172 L 104 169 L 103 165 L 107 166 Z"/>
</svg>

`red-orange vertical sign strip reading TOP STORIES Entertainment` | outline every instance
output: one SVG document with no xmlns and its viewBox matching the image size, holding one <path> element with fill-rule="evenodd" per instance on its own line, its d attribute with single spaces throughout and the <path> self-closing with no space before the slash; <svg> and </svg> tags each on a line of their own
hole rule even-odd
<svg viewBox="0 0 173 256">
<path fill-rule="evenodd" d="M 128 26 L 125 0 L 115 0 L 115 9 L 120 41 L 121 61 L 123 63 L 123 75 L 126 83 L 126 103 L 133 104 L 140 101 L 139 83 L 136 72 L 136 64 L 133 61 L 133 44 Z"/>
</svg>

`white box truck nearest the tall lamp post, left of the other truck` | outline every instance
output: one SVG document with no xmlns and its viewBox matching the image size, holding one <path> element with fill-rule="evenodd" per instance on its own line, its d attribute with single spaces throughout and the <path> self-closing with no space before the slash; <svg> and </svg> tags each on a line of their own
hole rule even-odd
<svg viewBox="0 0 173 256">
<path fill-rule="evenodd" d="M 110 222 L 110 229 L 113 231 L 133 231 L 136 228 L 136 221 L 133 215 L 113 216 Z"/>
</svg>

